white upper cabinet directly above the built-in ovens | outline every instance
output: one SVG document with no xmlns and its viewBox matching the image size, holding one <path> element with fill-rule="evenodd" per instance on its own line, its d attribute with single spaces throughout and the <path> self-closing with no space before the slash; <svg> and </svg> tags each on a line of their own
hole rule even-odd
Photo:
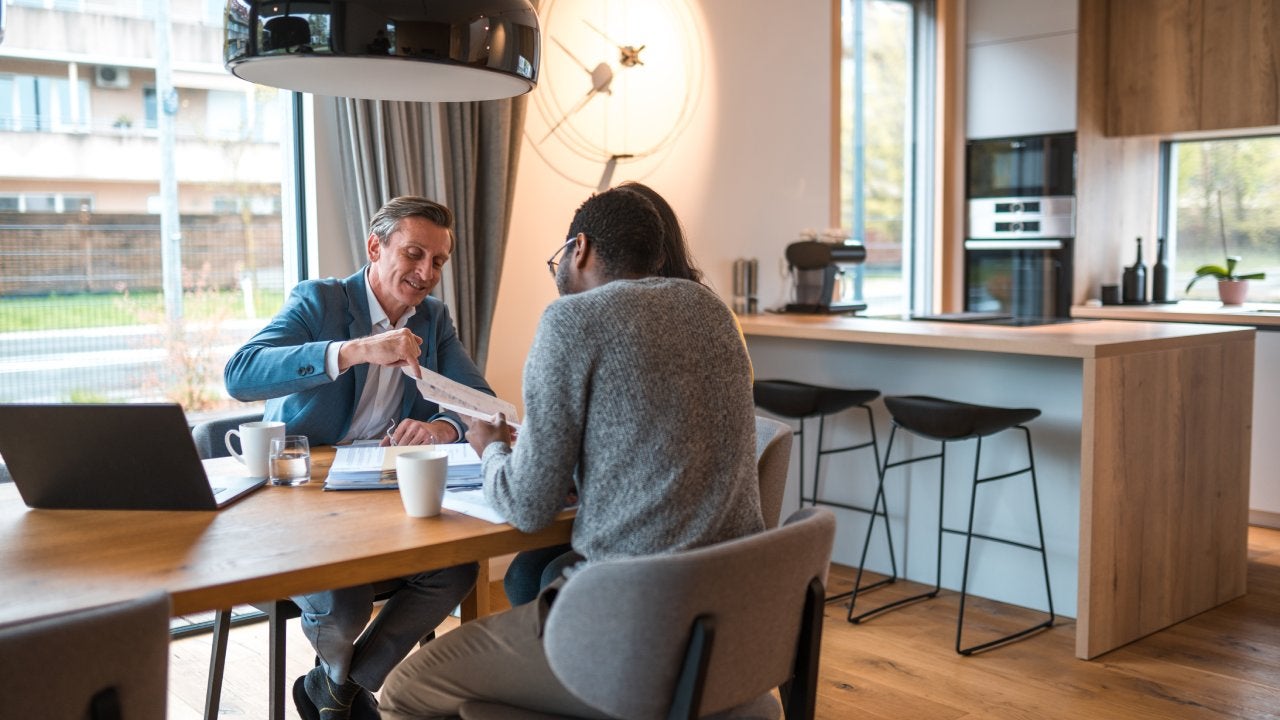
<svg viewBox="0 0 1280 720">
<path fill-rule="evenodd" d="M 1075 129 L 1075 0 L 969 0 L 965 135 Z"/>
</svg>

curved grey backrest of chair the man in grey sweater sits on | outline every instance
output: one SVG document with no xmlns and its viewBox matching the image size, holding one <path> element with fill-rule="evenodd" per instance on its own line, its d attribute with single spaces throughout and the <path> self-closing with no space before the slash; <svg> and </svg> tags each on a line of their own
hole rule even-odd
<svg viewBox="0 0 1280 720">
<path fill-rule="evenodd" d="M 829 510 L 806 507 L 745 538 L 588 565 L 547 616 L 552 671 L 607 715 L 667 717 L 690 630 L 703 618 L 714 638 L 699 715 L 754 701 L 795 673 L 806 597 L 814 580 L 826 584 L 835 533 Z M 817 592 L 812 621 L 820 630 Z"/>
</svg>

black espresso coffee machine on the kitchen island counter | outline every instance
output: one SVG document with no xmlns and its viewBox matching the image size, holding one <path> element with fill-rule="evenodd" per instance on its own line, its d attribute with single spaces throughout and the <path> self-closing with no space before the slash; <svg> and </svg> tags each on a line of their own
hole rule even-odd
<svg viewBox="0 0 1280 720">
<path fill-rule="evenodd" d="M 854 241 L 803 240 L 786 250 L 791 269 L 792 302 L 787 313 L 854 313 L 865 310 L 855 282 L 855 265 L 867 260 L 867 249 Z"/>
</svg>

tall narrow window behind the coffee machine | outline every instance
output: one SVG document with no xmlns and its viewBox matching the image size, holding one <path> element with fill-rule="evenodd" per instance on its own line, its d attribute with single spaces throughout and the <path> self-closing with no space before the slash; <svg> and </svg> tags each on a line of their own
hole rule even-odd
<svg viewBox="0 0 1280 720">
<path fill-rule="evenodd" d="M 927 305 L 931 32 L 927 0 L 841 0 L 838 223 L 867 246 L 868 313 Z"/>
</svg>

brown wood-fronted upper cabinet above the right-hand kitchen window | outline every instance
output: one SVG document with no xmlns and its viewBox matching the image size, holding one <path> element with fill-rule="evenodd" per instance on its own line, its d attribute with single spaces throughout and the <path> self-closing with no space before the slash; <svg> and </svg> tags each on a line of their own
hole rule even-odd
<svg viewBox="0 0 1280 720">
<path fill-rule="evenodd" d="M 1111 0 L 1107 135 L 1280 124 L 1280 3 Z"/>
</svg>

